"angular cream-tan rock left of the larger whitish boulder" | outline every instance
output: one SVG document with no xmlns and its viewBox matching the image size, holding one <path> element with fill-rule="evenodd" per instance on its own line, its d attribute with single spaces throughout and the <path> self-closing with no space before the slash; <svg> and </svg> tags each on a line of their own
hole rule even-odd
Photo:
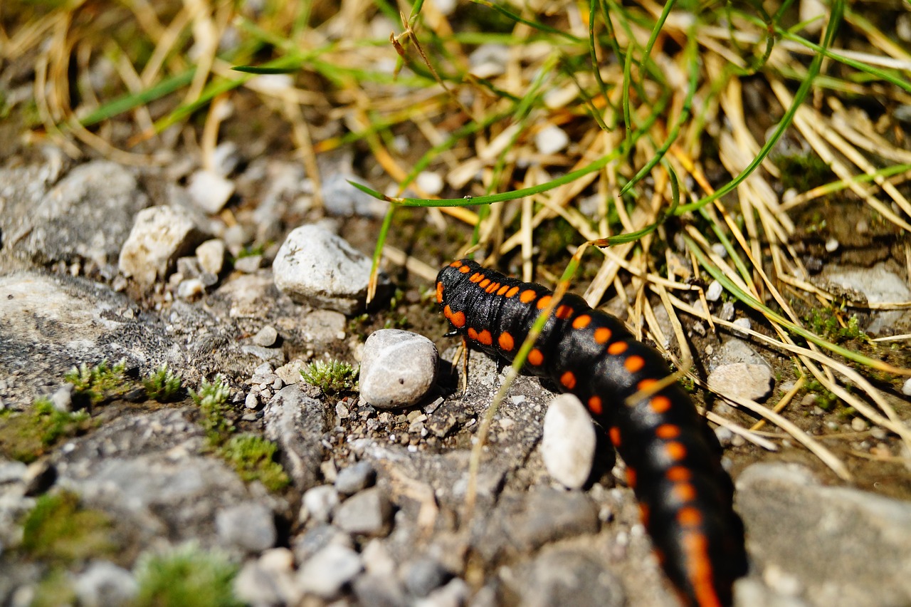
<svg viewBox="0 0 911 607">
<path fill-rule="evenodd" d="M 164 278 L 177 259 L 200 241 L 187 211 L 174 205 L 139 211 L 120 250 L 119 268 L 144 287 Z"/>
</svg>

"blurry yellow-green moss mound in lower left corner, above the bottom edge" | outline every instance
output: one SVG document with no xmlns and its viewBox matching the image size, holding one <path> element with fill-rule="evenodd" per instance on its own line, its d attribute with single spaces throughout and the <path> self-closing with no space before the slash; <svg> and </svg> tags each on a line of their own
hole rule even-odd
<svg viewBox="0 0 911 607">
<path fill-rule="evenodd" d="M 106 513 L 82 508 L 77 494 L 48 493 L 26 516 L 20 550 L 29 558 L 55 563 L 111 555 L 118 550 L 113 528 Z"/>
</svg>

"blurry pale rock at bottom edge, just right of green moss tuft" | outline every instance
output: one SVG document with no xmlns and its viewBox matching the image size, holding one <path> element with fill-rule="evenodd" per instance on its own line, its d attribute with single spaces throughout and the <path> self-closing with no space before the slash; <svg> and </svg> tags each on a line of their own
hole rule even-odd
<svg viewBox="0 0 911 607">
<path fill-rule="evenodd" d="M 234 594 L 253 607 L 296 605 L 302 592 L 294 581 L 294 556 L 287 548 L 264 551 L 243 564 L 234 578 Z"/>
</svg>

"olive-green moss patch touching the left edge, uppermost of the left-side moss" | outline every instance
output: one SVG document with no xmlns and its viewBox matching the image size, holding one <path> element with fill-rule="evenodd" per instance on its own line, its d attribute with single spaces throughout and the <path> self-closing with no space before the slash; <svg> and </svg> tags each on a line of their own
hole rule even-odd
<svg viewBox="0 0 911 607">
<path fill-rule="evenodd" d="M 0 412 L 0 454 L 28 464 L 61 438 L 86 432 L 91 425 L 85 411 L 59 411 L 49 400 L 41 398 L 30 411 Z"/>
</svg>

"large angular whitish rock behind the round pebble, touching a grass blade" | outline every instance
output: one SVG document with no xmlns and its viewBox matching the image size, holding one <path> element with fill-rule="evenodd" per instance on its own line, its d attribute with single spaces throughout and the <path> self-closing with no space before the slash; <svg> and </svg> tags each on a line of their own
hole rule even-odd
<svg viewBox="0 0 911 607">
<path fill-rule="evenodd" d="M 372 262 L 330 231 L 295 229 L 272 263 L 275 286 L 295 302 L 357 314 L 366 304 Z M 378 294 L 389 286 L 381 275 Z"/>
</svg>

